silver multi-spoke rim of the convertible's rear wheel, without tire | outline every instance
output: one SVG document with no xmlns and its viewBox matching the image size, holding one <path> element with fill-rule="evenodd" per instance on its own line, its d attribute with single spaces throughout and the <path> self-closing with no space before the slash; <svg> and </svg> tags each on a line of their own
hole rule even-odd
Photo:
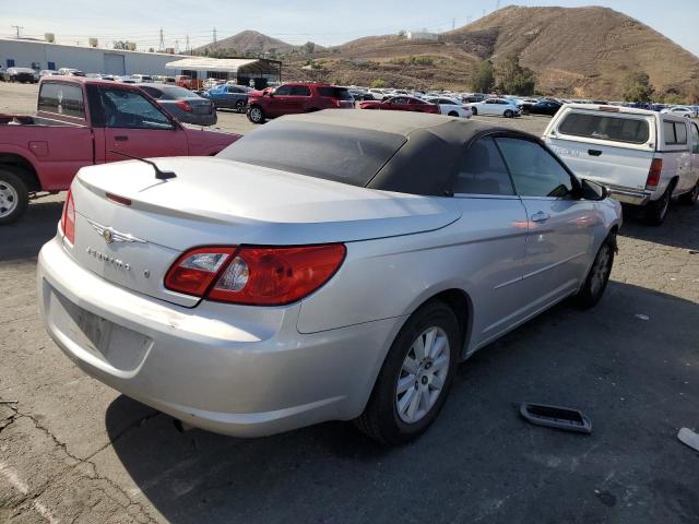
<svg viewBox="0 0 699 524">
<path fill-rule="evenodd" d="M 413 342 L 395 388 L 395 409 L 403 422 L 422 420 L 437 403 L 447 381 L 449 358 L 449 337 L 441 327 L 428 327 Z"/>
</svg>

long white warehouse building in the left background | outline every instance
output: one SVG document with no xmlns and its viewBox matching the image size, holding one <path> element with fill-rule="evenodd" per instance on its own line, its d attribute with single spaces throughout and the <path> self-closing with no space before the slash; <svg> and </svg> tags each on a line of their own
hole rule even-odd
<svg viewBox="0 0 699 524">
<path fill-rule="evenodd" d="M 74 68 L 85 73 L 168 74 L 165 64 L 182 55 L 66 46 L 40 40 L 0 38 L 0 66 L 3 68 Z"/>
</svg>

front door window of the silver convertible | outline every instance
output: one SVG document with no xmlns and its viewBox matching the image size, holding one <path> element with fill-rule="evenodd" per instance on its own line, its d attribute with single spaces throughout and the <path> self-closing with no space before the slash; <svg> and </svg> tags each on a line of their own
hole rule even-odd
<svg viewBox="0 0 699 524">
<path fill-rule="evenodd" d="M 540 144 L 520 139 L 495 140 L 520 195 L 557 199 L 567 199 L 572 195 L 570 175 Z"/>
</svg>

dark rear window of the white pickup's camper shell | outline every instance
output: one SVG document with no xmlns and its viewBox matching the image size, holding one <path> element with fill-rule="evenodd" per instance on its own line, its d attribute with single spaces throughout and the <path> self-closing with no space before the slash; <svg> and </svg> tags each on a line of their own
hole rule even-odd
<svg viewBox="0 0 699 524">
<path fill-rule="evenodd" d="M 650 138 L 647 120 L 583 112 L 569 112 L 558 131 L 572 136 L 629 144 L 644 144 Z"/>
</svg>

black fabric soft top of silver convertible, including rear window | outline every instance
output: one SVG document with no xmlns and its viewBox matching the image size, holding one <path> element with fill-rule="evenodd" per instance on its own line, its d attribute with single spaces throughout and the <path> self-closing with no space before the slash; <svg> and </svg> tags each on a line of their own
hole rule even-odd
<svg viewBox="0 0 699 524">
<path fill-rule="evenodd" d="M 266 123 L 218 156 L 371 189 L 443 195 L 467 145 L 494 133 L 538 141 L 463 118 L 328 109 Z"/>
</svg>

